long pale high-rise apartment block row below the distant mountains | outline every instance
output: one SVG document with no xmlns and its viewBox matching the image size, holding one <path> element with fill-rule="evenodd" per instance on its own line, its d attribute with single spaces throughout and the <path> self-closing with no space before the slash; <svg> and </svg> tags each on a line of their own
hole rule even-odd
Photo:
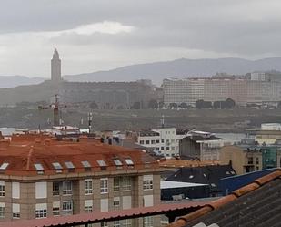
<svg viewBox="0 0 281 227">
<path fill-rule="evenodd" d="M 281 82 L 262 79 L 228 77 L 165 79 L 163 88 L 166 105 L 186 103 L 195 106 L 196 101 L 200 99 L 215 102 L 232 98 L 241 106 L 276 103 L 281 100 Z"/>
</svg>

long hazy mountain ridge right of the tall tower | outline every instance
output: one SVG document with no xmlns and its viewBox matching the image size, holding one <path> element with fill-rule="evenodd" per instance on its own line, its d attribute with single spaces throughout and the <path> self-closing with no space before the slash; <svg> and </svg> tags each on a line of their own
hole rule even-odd
<svg viewBox="0 0 281 227">
<path fill-rule="evenodd" d="M 134 81 L 147 78 L 160 85 L 166 77 L 210 77 L 217 72 L 244 75 L 248 72 L 267 70 L 281 71 L 281 57 L 271 57 L 255 61 L 241 58 L 182 58 L 174 61 L 118 67 L 108 71 L 67 75 L 64 78 L 75 82 Z"/>
</svg>

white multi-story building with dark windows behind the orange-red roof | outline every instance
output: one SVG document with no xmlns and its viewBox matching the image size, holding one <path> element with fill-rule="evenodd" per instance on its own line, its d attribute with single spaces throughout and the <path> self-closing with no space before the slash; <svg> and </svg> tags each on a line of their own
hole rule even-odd
<svg viewBox="0 0 281 227">
<path fill-rule="evenodd" d="M 177 135 L 176 128 L 151 129 L 139 132 L 137 143 L 171 158 L 179 154 L 179 139 L 185 136 Z"/>
</svg>

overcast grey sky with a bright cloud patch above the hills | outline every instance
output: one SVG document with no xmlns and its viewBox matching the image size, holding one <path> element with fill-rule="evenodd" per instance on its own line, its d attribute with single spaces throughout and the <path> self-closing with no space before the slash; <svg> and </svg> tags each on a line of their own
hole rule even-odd
<svg viewBox="0 0 281 227">
<path fill-rule="evenodd" d="M 281 56 L 280 0 L 1 0 L 0 75 L 50 77 L 180 57 Z"/>
</svg>

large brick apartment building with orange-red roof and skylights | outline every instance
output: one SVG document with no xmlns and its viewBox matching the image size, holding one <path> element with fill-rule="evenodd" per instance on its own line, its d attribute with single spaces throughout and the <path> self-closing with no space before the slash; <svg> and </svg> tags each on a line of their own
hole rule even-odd
<svg viewBox="0 0 281 227">
<path fill-rule="evenodd" d="M 0 141 L 0 222 L 153 206 L 160 169 L 145 152 L 42 135 Z M 158 217 L 93 226 L 159 226 Z"/>
</svg>

